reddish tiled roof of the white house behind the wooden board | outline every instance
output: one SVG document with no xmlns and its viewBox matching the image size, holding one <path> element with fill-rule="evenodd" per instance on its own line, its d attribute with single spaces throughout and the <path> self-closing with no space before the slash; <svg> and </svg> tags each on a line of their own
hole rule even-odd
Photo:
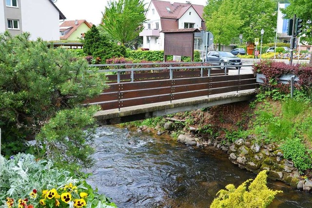
<svg viewBox="0 0 312 208">
<path fill-rule="evenodd" d="M 199 17 L 203 20 L 203 5 L 190 4 L 190 3 L 170 3 L 169 1 L 152 0 L 160 18 L 179 19 L 191 6 L 195 9 Z M 167 10 L 170 9 L 170 11 Z"/>
</svg>

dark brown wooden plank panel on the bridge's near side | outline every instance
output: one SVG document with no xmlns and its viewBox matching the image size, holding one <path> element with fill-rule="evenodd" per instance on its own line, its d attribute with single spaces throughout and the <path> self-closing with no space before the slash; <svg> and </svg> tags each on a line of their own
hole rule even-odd
<svg viewBox="0 0 312 208">
<path fill-rule="evenodd" d="M 188 76 L 191 74 L 188 73 Z M 100 104 L 102 109 L 114 109 L 254 89 L 259 86 L 253 74 L 112 83 L 109 85 L 109 89 L 86 103 Z"/>
</svg>

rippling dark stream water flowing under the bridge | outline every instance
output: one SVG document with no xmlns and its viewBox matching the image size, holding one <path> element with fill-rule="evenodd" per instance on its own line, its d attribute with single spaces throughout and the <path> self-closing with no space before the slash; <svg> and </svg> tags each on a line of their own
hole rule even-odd
<svg viewBox="0 0 312 208">
<path fill-rule="evenodd" d="M 219 150 L 116 126 L 98 127 L 94 147 L 97 162 L 87 181 L 119 208 L 208 208 L 219 189 L 255 177 Z M 271 208 L 312 207 L 309 193 L 270 180 L 268 186 L 284 191 Z"/>
</svg>

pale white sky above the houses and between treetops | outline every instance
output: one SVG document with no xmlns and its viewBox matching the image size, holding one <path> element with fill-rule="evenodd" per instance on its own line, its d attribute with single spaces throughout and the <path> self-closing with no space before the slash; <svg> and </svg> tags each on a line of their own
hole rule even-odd
<svg viewBox="0 0 312 208">
<path fill-rule="evenodd" d="M 166 0 L 170 1 L 170 0 Z M 185 3 L 186 0 L 171 0 Z M 193 4 L 206 5 L 207 0 L 188 0 Z M 55 5 L 65 15 L 66 20 L 86 20 L 98 25 L 108 0 L 57 0 Z M 150 0 L 144 0 L 148 6 Z"/>
</svg>

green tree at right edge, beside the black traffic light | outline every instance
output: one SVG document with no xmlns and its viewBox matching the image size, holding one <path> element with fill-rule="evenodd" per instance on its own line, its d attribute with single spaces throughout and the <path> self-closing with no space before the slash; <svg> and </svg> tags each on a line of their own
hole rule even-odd
<svg viewBox="0 0 312 208">
<path fill-rule="evenodd" d="M 299 33 L 300 41 L 312 44 L 312 1 L 311 0 L 289 0 L 290 5 L 282 12 L 286 15 L 286 18 L 292 19 L 296 14 L 298 19 L 302 21 L 302 32 Z M 312 54 L 311 54 L 312 56 Z M 312 58 L 310 59 L 312 63 Z"/>
</svg>

